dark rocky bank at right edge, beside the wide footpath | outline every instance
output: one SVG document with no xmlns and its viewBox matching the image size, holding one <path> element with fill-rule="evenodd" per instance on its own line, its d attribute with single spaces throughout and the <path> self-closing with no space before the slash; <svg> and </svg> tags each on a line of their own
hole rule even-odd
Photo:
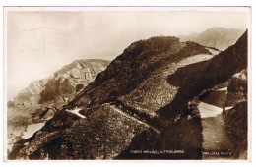
<svg viewBox="0 0 256 167">
<path fill-rule="evenodd" d="M 248 87 L 247 70 L 235 74 L 227 87 L 224 105 L 224 123 L 234 143 L 235 156 L 247 158 L 248 147 Z"/>
</svg>

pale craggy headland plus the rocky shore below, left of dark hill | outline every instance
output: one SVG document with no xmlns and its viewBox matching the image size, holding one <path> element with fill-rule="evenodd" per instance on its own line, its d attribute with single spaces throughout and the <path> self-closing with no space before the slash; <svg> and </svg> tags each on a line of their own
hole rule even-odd
<svg viewBox="0 0 256 167">
<path fill-rule="evenodd" d="M 51 77 L 32 82 L 13 101 L 9 101 L 7 123 L 10 147 L 19 139 L 31 137 L 59 107 L 68 103 L 70 97 L 92 83 L 97 73 L 108 64 L 105 60 L 76 60 Z M 30 130 L 30 127 L 35 129 Z"/>
</svg>

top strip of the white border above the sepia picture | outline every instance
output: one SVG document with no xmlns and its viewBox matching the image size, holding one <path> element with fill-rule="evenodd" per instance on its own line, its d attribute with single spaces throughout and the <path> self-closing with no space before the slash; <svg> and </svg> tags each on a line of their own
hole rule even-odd
<svg viewBox="0 0 256 167">
<path fill-rule="evenodd" d="M 5 6 L 251 6 L 253 0 L 8 0 Z"/>
</svg>

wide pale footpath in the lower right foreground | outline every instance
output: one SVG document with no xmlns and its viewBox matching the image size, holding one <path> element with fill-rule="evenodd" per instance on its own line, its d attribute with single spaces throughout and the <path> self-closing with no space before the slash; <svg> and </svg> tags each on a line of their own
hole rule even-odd
<svg viewBox="0 0 256 167">
<path fill-rule="evenodd" d="M 223 109 L 218 105 L 224 103 L 225 95 L 225 89 L 214 91 L 207 96 L 208 103 L 203 100 L 198 106 L 203 126 L 203 159 L 233 159 L 232 141 L 224 127 Z M 213 103 L 209 104 L 211 100 Z"/>
</svg>

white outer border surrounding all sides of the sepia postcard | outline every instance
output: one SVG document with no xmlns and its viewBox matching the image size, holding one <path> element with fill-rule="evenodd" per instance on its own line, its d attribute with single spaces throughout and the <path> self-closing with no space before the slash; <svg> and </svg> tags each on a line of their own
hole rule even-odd
<svg viewBox="0 0 256 167">
<path fill-rule="evenodd" d="M 224 0 L 211 0 L 211 1 L 207 1 L 207 0 L 178 0 L 178 1 L 169 1 L 169 0 L 158 0 L 158 1 L 154 1 L 154 0 L 147 0 L 145 2 L 138 2 L 136 0 L 130 0 L 130 1 L 118 1 L 118 0 L 109 0 L 109 1 L 106 1 L 106 0 L 94 0 L 93 2 L 92 1 L 75 1 L 75 0 L 61 0 L 61 1 L 54 1 L 54 0 L 23 0 L 23 1 L 18 1 L 18 0 L 7 0 L 5 2 L 0 2 L 1 4 L 1 17 L 3 18 L 3 6 L 252 6 L 254 5 L 253 3 L 253 0 L 247 0 L 247 1 L 241 1 L 241 0 L 232 0 L 232 1 L 224 1 Z M 254 13 L 252 13 L 252 18 L 255 18 L 254 17 Z M 254 26 L 254 23 L 252 23 L 252 26 L 251 26 L 251 29 L 253 28 Z M 1 30 L 2 30 L 2 27 L 1 27 Z M 2 30 L 3 31 L 3 30 Z M 251 31 L 250 31 L 251 32 Z M 252 33 L 252 38 L 254 38 L 254 34 L 255 33 Z M 3 33 L 0 33 L 0 37 L 3 38 Z M 252 46 L 252 39 L 249 38 L 249 40 L 251 41 L 251 45 Z M 3 44 L 3 43 L 2 43 Z M 3 53 L 3 48 L 1 47 L 1 51 Z M 251 49 L 249 49 L 249 52 L 251 53 L 254 53 L 254 48 L 251 47 Z M 252 67 L 252 74 L 254 72 L 254 67 L 253 67 L 253 63 L 254 60 L 253 60 L 253 56 L 252 54 L 249 54 L 251 55 L 251 61 L 249 61 L 249 67 Z M 0 59 L 0 71 L 3 72 L 3 59 Z M 251 84 L 255 83 L 255 80 L 253 79 L 252 77 L 252 74 L 250 74 L 250 81 L 251 81 Z M 3 73 L 0 74 L 0 79 L 3 79 Z M 2 81 L 0 82 L 1 86 L 2 86 Z M 253 84 L 254 85 L 254 84 Z M 2 86 L 3 87 L 3 86 Z M 249 97 L 251 97 L 251 99 L 253 99 L 252 97 L 252 93 L 251 92 L 254 92 L 254 87 L 252 87 L 251 91 L 249 91 Z M 2 94 L 3 94 L 3 88 L 0 88 L 0 93 L 1 93 L 1 100 L 0 100 L 0 106 L 3 106 L 3 100 L 2 100 Z M 253 113 L 253 109 L 255 108 L 255 103 L 251 102 L 251 111 L 252 111 L 252 115 L 251 115 L 251 120 L 252 120 L 252 128 L 255 128 L 255 123 L 253 122 L 253 118 L 255 116 L 255 114 Z M 2 116 L 2 115 L 1 115 Z M 0 130 L 0 133 L 2 133 L 2 129 Z M 254 134 L 252 134 L 252 136 L 254 137 Z M 252 139 L 254 139 L 252 137 Z M 0 138 L 0 146 L 2 147 L 2 138 Z M 252 144 L 252 146 L 254 146 Z M 253 147 L 254 148 L 254 147 Z M 255 150 L 255 149 L 254 149 Z M 2 149 L 0 149 L 0 153 L 2 153 Z M 254 157 L 254 154 L 252 152 L 252 159 Z M 174 164 L 168 164 L 169 162 L 165 162 L 165 161 L 137 161 L 137 163 L 134 163 L 134 162 L 131 162 L 131 161 L 115 161 L 114 163 L 112 161 L 90 161 L 91 163 L 88 163 L 83 161 L 82 164 L 80 165 L 106 165 L 106 166 L 112 166 L 112 165 L 120 165 L 122 164 L 122 166 L 130 166 L 130 165 L 135 165 L 135 166 L 142 166 L 142 165 L 147 165 L 147 166 L 156 166 L 156 165 L 163 165 L 163 166 L 169 166 L 169 165 L 184 165 L 184 166 L 187 166 L 187 161 L 185 162 L 185 164 L 183 163 L 183 161 L 181 161 L 181 164 L 180 162 L 174 162 Z M 125 162 L 125 163 L 123 163 Z M 199 161 L 199 162 L 202 162 L 202 161 Z M 254 163 L 255 161 L 253 161 Z M 87 163 L 87 164 L 85 164 Z M 147 163 L 147 164 L 145 164 Z M 192 166 L 200 166 L 200 165 L 208 165 L 208 166 L 216 166 L 216 165 L 224 165 L 224 166 L 228 166 L 228 165 L 245 165 L 245 166 L 252 166 L 253 163 L 243 163 L 243 164 L 240 164 L 240 163 L 232 163 L 232 164 L 219 164 L 219 163 L 208 163 L 208 162 L 204 162 L 204 163 L 192 163 L 192 164 L 189 164 L 189 165 L 192 165 Z M 51 165 L 54 165 L 56 164 L 55 162 L 54 163 L 36 163 L 36 166 L 45 166 L 47 164 L 51 164 Z M 75 163 L 76 165 L 78 165 L 79 163 Z M 26 163 L 4 163 L 4 164 L 1 164 L 1 165 L 24 165 L 24 166 L 30 166 L 30 165 L 35 165 L 34 162 L 26 162 Z M 65 163 L 62 163 L 60 165 L 66 165 L 66 166 L 70 166 L 70 162 L 67 162 L 65 161 Z M 254 165 L 255 166 L 255 165 Z"/>
</svg>

